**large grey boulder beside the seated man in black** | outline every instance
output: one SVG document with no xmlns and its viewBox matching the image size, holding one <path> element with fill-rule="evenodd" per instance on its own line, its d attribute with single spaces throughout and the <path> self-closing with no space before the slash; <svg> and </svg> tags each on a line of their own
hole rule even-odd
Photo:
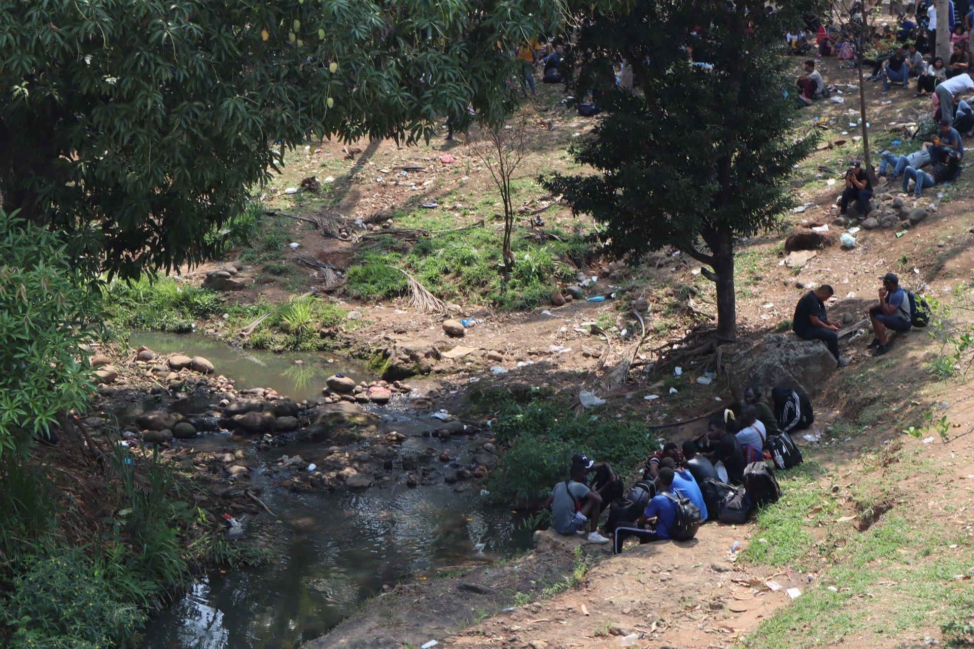
<svg viewBox="0 0 974 649">
<path fill-rule="evenodd" d="M 821 341 L 804 341 L 794 334 L 768 334 L 731 358 L 729 376 L 734 396 L 759 385 L 800 387 L 809 395 L 836 371 L 836 359 Z"/>
</svg>

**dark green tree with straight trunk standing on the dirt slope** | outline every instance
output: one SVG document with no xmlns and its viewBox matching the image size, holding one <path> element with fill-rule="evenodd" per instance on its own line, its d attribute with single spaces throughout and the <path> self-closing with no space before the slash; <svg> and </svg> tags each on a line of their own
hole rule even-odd
<svg viewBox="0 0 974 649">
<path fill-rule="evenodd" d="M 734 238 L 778 223 L 792 205 L 793 166 L 811 150 L 795 135 L 780 36 L 812 3 L 787 4 L 771 13 L 763 0 L 642 0 L 589 13 L 569 54 L 570 88 L 579 97 L 595 90 L 609 115 L 573 155 L 599 173 L 544 180 L 604 226 L 612 254 L 636 259 L 672 245 L 709 266 L 727 337 Z M 640 90 L 615 85 L 613 64 L 623 59 Z"/>
</svg>

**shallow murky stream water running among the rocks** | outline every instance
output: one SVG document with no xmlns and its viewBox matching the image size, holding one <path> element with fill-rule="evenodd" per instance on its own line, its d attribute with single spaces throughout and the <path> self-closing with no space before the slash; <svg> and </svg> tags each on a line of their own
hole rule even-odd
<svg viewBox="0 0 974 649">
<path fill-rule="evenodd" d="M 317 399 L 324 379 L 335 373 L 370 378 L 353 361 L 317 352 L 277 354 L 195 335 L 148 332 L 133 333 L 130 344 L 163 354 L 205 356 L 217 374 L 235 379 L 239 389 L 271 387 L 295 400 Z M 304 364 L 295 365 L 295 358 Z M 210 404 L 199 397 L 177 402 L 180 409 L 191 410 Z M 118 416 L 130 419 L 158 408 L 158 402 L 147 399 Z M 400 431 L 428 429 L 434 421 L 408 409 L 370 410 Z M 270 559 L 258 567 L 211 571 L 196 580 L 146 627 L 144 649 L 298 647 L 337 625 L 383 585 L 408 574 L 486 563 L 530 546 L 531 533 L 517 528 L 509 510 L 483 505 L 475 484 L 459 493 L 440 480 L 418 488 L 294 494 L 277 487 L 266 469 L 284 454 L 315 461 L 320 445 L 295 442 L 255 451 L 227 432 L 173 444 L 204 451 L 244 449 L 257 462 L 252 483 L 262 487 L 261 498 L 277 520 L 266 513 L 241 517 L 244 538 L 266 549 Z M 403 446 L 420 450 L 431 442 L 409 437 Z"/>
</svg>

